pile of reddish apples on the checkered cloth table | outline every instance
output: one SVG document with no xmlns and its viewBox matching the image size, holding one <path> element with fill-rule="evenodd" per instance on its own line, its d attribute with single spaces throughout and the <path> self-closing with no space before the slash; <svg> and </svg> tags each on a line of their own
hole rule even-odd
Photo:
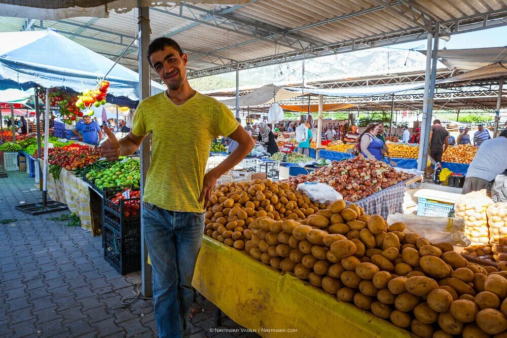
<svg viewBox="0 0 507 338">
<path fill-rule="evenodd" d="M 304 182 L 327 183 L 345 201 L 355 202 L 414 176 L 403 171 L 397 172 L 385 162 L 363 156 L 333 161 L 331 164 L 331 167 L 320 167 L 307 175 L 299 174 L 285 181 L 294 189 Z"/>
</svg>

